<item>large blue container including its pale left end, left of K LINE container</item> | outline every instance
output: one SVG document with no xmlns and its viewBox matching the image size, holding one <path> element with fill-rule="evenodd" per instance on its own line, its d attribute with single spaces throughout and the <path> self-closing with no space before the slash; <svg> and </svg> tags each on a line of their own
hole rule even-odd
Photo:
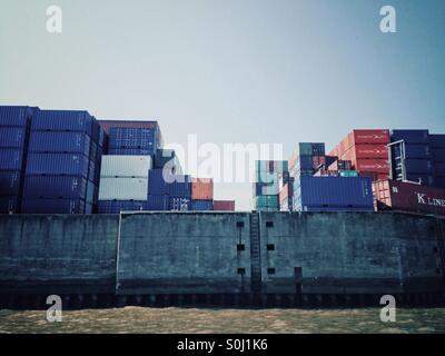
<svg viewBox="0 0 445 356">
<path fill-rule="evenodd" d="M 369 177 L 300 177 L 294 188 L 296 211 L 372 211 Z"/>
</svg>

